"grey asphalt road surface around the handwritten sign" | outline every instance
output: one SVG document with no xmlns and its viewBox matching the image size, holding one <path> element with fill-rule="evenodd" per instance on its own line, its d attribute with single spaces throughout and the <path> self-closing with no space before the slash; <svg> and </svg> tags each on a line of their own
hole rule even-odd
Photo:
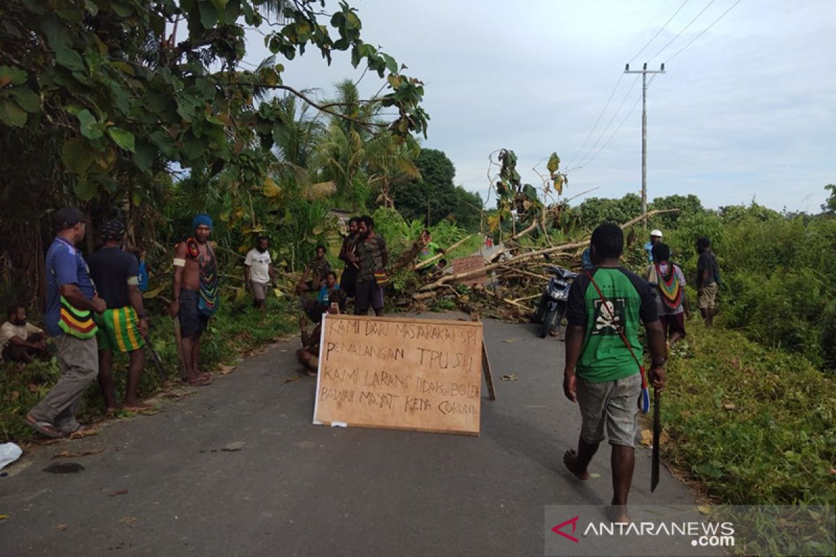
<svg viewBox="0 0 836 557">
<path fill-rule="evenodd" d="M 609 502 L 609 448 L 586 483 L 563 469 L 580 425 L 563 342 L 499 322 L 484 335 L 498 399 L 482 399 L 480 437 L 312 425 L 315 380 L 286 382 L 293 339 L 160 413 L 24 455 L 0 479 L 0 554 L 542 555 L 545 505 Z M 664 468 L 650 494 L 650 451 L 636 456 L 631 503 L 694 503 Z"/>
</svg>

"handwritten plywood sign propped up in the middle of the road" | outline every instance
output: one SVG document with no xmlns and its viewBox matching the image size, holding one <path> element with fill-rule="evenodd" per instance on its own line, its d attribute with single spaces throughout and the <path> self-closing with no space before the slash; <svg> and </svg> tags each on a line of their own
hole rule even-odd
<svg viewBox="0 0 836 557">
<path fill-rule="evenodd" d="M 482 323 L 328 315 L 314 423 L 479 434 Z"/>
</svg>

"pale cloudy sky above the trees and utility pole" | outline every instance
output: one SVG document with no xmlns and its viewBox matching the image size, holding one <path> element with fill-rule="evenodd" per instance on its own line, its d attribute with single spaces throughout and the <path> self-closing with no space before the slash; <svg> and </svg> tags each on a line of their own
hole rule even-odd
<svg viewBox="0 0 836 557">
<path fill-rule="evenodd" d="M 647 89 L 649 201 L 696 194 L 710 208 L 755 200 L 818 212 L 823 186 L 836 183 L 834 0 L 351 5 L 364 41 L 424 82 L 431 121 L 422 145 L 444 151 L 456 184 L 483 199 L 488 157 L 503 148 L 537 186 L 533 167 L 546 174 L 544 158 L 557 152 L 568 170 L 564 197 L 579 195 L 573 203 L 639 194 L 642 88 L 640 75 L 624 74 L 628 62 L 665 63 Z M 248 32 L 247 62 L 268 54 Z M 344 53 L 330 66 L 316 49 L 278 61 L 285 84 L 318 89 L 319 99 L 362 74 Z M 381 84 L 367 73 L 359 89 L 367 97 Z"/>
</svg>

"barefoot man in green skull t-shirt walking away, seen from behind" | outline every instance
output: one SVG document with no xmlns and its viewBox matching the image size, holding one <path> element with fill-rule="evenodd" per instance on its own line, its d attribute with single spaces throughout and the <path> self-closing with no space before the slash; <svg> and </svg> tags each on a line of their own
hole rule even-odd
<svg viewBox="0 0 836 557">
<path fill-rule="evenodd" d="M 642 356 L 640 322 L 650 345 L 648 380 L 657 390 L 665 387 L 665 336 L 655 296 L 647 281 L 619 266 L 623 250 L 624 233 L 618 225 L 600 225 L 592 233 L 592 278 L 586 273 L 578 276 L 569 290 L 563 377 L 563 392 L 578 403 L 583 420 L 578 450 L 568 450 L 563 463 L 578 479 L 588 479 L 589 462 L 609 437 L 614 522 L 630 520 L 626 505 L 642 388 L 637 361 Z"/>
</svg>

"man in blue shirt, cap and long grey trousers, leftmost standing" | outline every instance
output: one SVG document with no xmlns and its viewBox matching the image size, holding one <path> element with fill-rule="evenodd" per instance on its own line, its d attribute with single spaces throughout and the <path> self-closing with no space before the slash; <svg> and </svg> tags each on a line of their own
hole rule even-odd
<svg viewBox="0 0 836 557">
<path fill-rule="evenodd" d="M 84 215 L 74 207 L 55 212 L 55 240 L 46 257 L 46 327 L 58 347 L 61 377 L 26 422 L 47 437 L 59 438 L 81 428 L 75 419 L 79 399 L 99 372 L 95 311 L 107 306 L 96 294 L 84 257 L 75 247 L 84 239 Z"/>
</svg>

